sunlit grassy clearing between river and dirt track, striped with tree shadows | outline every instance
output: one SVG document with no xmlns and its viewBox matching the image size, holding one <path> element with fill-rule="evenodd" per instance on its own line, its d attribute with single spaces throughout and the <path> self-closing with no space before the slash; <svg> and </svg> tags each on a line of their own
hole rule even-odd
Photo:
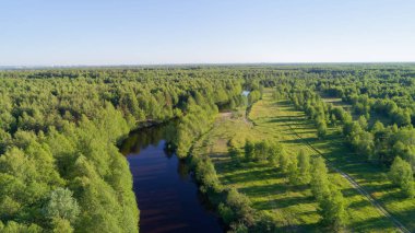
<svg viewBox="0 0 415 233">
<path fill-rule="evenodd" d="M 339 153 L 337 159 L 348 158 L 345 155 L 349 153 L 347 148 L 340 141 L 334 129 L 330 131 L 330 137 L 333 138 L 317 140 L 315 126 L 305 119 L 304 113 L 295 110 L 287 102 L 274 102 L 270 92 L 266 92 L 263 100 L 252 107 L 250 119 L 253 121 L 253 127 L 242 117 L 220 117 L 213 130 L 197 142 L 194 154 L 211 156 L 222 185 L 236 187 L 246 194 L 252 201 L 253 208 L 271 215 L 282 229 L 321 231 L 318 206 L 308 186 L 289 185 L 285 174 L 282 174 L 277 167 L 264 163 L 235 165 L 227 155 L 227 142 L 234 138 L 242 148 L 247 138 L 273 139 L 284 143 L 287 153 L 292 155 L 300 150 L 310 155 L 317 155 L 304 140 L 297 138 L 289 128 L 289 124 L 297 133 L 313 143 L 321 152 L 333 154 L 330 156 L 333 162 L 336 153 Z M 340 160 L 337 162 L 341 163 Z M 354 232 L 395 231 L 392 222 L 381 215 L 345 178 L 336 173 L 332 173 L 330 177 L 341 187 L 347 202 L 348 230 Z"/>
</svg>

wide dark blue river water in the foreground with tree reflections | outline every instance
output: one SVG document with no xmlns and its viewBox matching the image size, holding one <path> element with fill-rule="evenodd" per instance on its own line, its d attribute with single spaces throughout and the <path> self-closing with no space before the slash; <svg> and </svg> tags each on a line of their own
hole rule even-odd
<svg viewBox="0 0 415 233">
<path fill-rule="evenodd" d="M 167 149 L 175 131 L 174 124 L 140 129 L 121 145 L 133 175 L 140 232 L 223 232 L 187 165 Z"/>
</svg>

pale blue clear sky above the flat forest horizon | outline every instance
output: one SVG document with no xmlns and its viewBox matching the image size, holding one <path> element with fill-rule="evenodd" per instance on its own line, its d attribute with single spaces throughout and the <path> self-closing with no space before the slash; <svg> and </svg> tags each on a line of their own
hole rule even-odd
<svg viewBox="0 0 415 233">
<path fill-rule="evenodd" d="M 0 66 L 415 61 L 414 0 L 0 0 Z"/>
</svg>

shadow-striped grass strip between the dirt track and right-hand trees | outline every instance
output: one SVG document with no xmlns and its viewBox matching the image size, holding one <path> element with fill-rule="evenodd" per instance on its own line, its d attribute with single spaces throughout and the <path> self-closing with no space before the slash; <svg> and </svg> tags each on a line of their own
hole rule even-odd
<svg viewBox="0 0 415 233">
<path fill-rule="evenodd" d="M 374 124 L 376 120 L 386 125 L 390 121 L 390 119 L 372 113 L 369 124 Z M 415 198 L 405 198 L 398 187 L 392 186 L 387 177 L 387 167 L 369 163 L 363 154 L 354 153 L 342 136 L 333 133 L 333 129 L 327 139 L 310 141 L 310 143 L 324 152 L 337 168 L 353 176 L 410 231 L 415 231 Z"/>
</svg>

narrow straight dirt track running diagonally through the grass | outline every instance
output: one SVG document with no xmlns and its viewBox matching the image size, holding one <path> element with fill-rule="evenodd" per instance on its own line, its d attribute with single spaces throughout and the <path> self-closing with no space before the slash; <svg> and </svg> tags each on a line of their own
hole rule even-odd
<svg viewBox="0 0 415 233">
<path fill-rule="evenodd" d="M 378 211 L 383 214 L 384 217 L 387 217 L 388 219 L 390 219 L 394 225 L 400 230 L 400 232 L 404 232 L 404 233 L 411 233 L 410 230 L 407 230 L 398 219 L 395 219 L 390 212 L 388 212 L 388 210 L 386 210 L 382 205 L 380 202 L 378 202 L 369 193 L 367 193 L 352 176 L 349 176 L 347 173 L 344 173 L 343 171 L 334 167 L 330 161 L 319 151 L 317 150 L 315 147 L 312 147 L 312 144 L 310 144 L 306 139 L 304 139 L 301 136 L 299 136 L 295 129 L 288 124 L 288 127 L 289 129 L 293 131 L 293 133 L 300 140 L 303 140 L 305 142 L 305 144 L 310 148 L 312 151 L 315 151 L 317 154 L 319 154 L 320 156 L 322 156 L 325 161 L 327 161 L 327 164 L 330 168 L 334 170 L 335 172 L 337 172 L 339 174 L 341 174 L 344 178 L 346 178 L 351 185 L 363 196 L 365 196 L 369 201 L 370 203 L 376 208 L 378 209 Z"/>
</svg>

